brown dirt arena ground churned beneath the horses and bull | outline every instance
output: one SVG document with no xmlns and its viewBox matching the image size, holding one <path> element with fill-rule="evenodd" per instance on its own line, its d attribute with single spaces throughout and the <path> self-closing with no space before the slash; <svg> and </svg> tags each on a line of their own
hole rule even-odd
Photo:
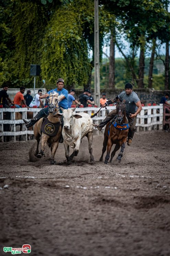
<svg viewBox="0 0 170 256">
<path fill-rule="evenodd" d="M 30 255 L 169 256 L 170 133 L 136 133 L 121 163 L 95 162 L 84 138 L 75 163 L 29 161 L 33 141 L 0 144 L 0 255 L 31 245 Z M 105 156 L 104 156 L 105 157 Z M 56 161 L 64 161 L 60 144 Z"/>
</svg>

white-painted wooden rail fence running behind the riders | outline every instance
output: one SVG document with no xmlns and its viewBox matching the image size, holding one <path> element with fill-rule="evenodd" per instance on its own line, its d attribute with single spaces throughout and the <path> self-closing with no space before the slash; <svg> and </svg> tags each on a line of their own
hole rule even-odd
<svg viewBox="0 0 170 256">
<path fill-rule="evenodd" d="M 107 107 L 107 111 L 115 109 L 115 106 Z M 16 140 L 16 136 L 22 136 L 22 140 L 27 140 L 28 135 L 33 134 L 33 130 L 26 130 L 25 124 L 22 119 L 15 120 L 15 113 L 22 112 L 22 118 L 27 119 L 27 111 L 33 112 L 33 117 L 40 111 L 41 108 L 0 108 L 0 141 L 4 141 L 4 136 L 10 136 L 11 141 Z M 76 108 L 76 112 L 87 112 L 90 116 L 92 113 L 96 113 L 99 108 L 88 107 L 88 108 Z M 10 112 L 11 119 L 4 120 L 3 113 Z M 102 108 L 98 116 L 93 118 L 95 124 L 99 124 L 107 115 L 105 108 Z M 28 119 L 29 120 L 29 119 Z M 136 120 L 136 131 L 145 131 L 152 129 L 162 129 L 163 122 L 163 106 L 146 106 L 143 107 L 141 112 L 137 116 Z M 3 125 L 10 124 L 10 131 L 4 131 Z M 21 130 L 16 131 L 16 125 L 22 124 Z"/>
</svg>

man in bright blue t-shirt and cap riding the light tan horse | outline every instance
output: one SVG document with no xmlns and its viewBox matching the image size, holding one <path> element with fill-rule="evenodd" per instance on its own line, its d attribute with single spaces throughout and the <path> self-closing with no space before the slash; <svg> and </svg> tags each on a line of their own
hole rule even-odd
<svg viewBox="0 0 170 256">
<path fill-rule="evenodd" d="M 44 99 L 49 97 L 50 92 L 53 93 L 54 91 L 57 92 L 59 95 L 63 95 L 61 101 L 59 102 L 58 106 L 62 107 L 63 109 L 68 109 L 68 103 L 67 103 L 67 96 L 68 96 L 68 91 L 66 89 L 63 88 L 64 87 L 64 80 L 63 78 L 59 78 L 57 80 L 57 88 L 55 88 L 54 90 L 50 90 L 47 93 L 45 93 L 42 96 L 39 96 L 40 99 Z M 60 112 L 62 112 L 60 110 Z M 36 116 L 34 118 L 32 118 L 30 121 L 27 121 L 25 119 L 22 119 L 24 121 L 24 123 L 26 124 L 26 128 L 28 129 L 29 127 L 33 126 L 39 119 L 41 119 L 42 117 L 45 117 L 48 115 L 48 108 L 43 108 L 41 109 L 38 114 L 36 114 Z M 63 142 L 63 137 L 61 135 L 60 143 Z"/>
</svg>

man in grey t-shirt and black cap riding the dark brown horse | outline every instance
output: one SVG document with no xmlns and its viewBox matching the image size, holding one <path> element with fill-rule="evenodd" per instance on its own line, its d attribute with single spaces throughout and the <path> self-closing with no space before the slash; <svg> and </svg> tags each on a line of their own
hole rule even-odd
<svg viewBox="0 0 170 256">
<path fill-rule="evenodd" d="M 139 114 L 142 110 L 142 106 L 137 94 L 133 91 L 133 86 L 131 83 L 126 83 L 125 91 L 122 91 L 115 99 L 107 101 L 105 104 L 102 105 L 102 107 L 104 108 L 105 106 L 116 102 L 118 99 L 120 99 L 120 101 L 126 100 L 126 114 L 128 116 L 129 122 L 132 122 L 129 128 L 127 138 L 127 145 L 130 146 L 132 144 L 132 138 L 135 132 L 136 117 L 137 114 Z M 93 124 L 93 126 L 101 131 L 102 128 L 109 121 L 111 121 L 115 115 L 116 109 L 112 110 L 99 125 Z"/>
</svg>

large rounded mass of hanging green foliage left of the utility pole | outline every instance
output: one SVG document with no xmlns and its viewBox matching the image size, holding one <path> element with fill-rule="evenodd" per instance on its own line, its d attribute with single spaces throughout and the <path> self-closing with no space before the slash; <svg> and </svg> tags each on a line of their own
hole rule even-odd
<svg viewBox="0 0 170 256">
<path fill-rule="evenodd" d="M 91 1 L 89 7 L 90 4 Z M 41 60 L 42 74 L 47 83 L 55 83 L 58 77 L 63 77 L 69 86 L 87 83 L 90 61 L 87 43 L 82 37 L 86 7 L 81 3 L 58 10 L 48 23 Z"/>
</svg>

